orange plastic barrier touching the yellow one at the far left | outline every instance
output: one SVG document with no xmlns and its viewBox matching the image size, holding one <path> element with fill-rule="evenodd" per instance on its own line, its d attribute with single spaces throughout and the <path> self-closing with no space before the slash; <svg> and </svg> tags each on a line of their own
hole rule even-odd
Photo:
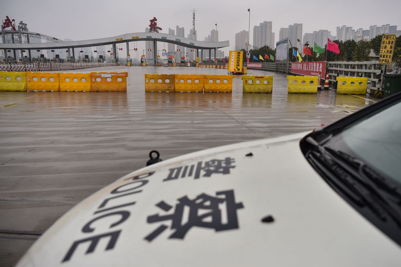
<svg viewBox="0 0 401 267">
<path fill-rule="evenodd" d="M 26 72 L 28 91 L 60 91 L 59 73 Z"/>
</svg>

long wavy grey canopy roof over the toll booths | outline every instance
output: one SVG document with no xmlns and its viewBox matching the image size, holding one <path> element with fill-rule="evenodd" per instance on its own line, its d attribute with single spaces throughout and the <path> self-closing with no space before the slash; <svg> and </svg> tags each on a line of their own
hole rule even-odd
<svg viewBox="0 0 401 267">
<path fill-rule="evenodd" d="M 16 32 L 18 33 L 18 32 Z M 24 32 L 26 33 L 26 32 Z M 29 32 L 31 33 L 31 32 Z M 32 32 L 32 34 L 36 34 L 39 36 L 45 36 L 43 34 L 38 34 Z M 49 36 L 50 37 L 50 36 Z M 53 38 L 53 37 L 52 37 Z M 81 40 L 81 41 L 71 41 L 71 42 L 63 42 L 57 38 L 54 38 L 55 42 L 47 42 L 47 43 L 1 43 L 0 49 L 4 49 L 4 53 L 6 55 L 7 49 L 72 49 L 73 57 L 74 57 L 74 50 L 73 48 L 78 47 L 94 47 L 100 45 L 113 45 L 113 52 L 116 53 L 115 44 L 117 43 L 128 43 L 133 41 L 153 41 L 154 46 L 154 58 L 157 57 L 157 42 L 168 42 L 171 44 L 177 44 L 182 47 L 188 47 L 192 49 L 196 49 L 196 56 L 198 57 L 199 51 L 201 49 L 201 58 L 203 59 L 203 50 L 211 50 L 214 49 L 215 53 L 217 49 L 222 47 L 228 47 L 230 45 L 229 41 L 223 42 L 204 42 L 198 40 L 188 39 L 182 36 L 177 36 L 173 34 L 166 34 L 160 32 L 138 32 L 138 33 L 128 33 L 117 35 L 114 37 L 108 38 L 99 38 L 99 39 L 92 39 L 92 40 Z M 57 40 L 57 41 L 56 41 Z M 75 58 L 75 57 L 74 57 Z"/>
</svg>

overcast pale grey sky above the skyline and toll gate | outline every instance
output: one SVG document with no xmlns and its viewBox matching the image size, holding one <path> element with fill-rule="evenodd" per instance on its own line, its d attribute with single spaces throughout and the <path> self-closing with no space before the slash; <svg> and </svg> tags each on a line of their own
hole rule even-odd
<svg viewBox="0 0 401 267">
<path fill-rule="evenodd" d="M 401 0 L 4 0 L 1 6 L 2 20 L 9 16 L 16 24 L 23 20 L 30 31 L 73 40 L 144 32 L 153 16 L 162 32 L 179 25 L 185 28 L 186 37 L 195 8 L 198 40 L 204 40 L 217 23 L 219 41 L 230 41 L 230 47 L 222 49 L 225 52 L 233 49 L 235 33 L 248 30 L 248 8 L 251 40 L 253 26 L 265 20 L 273 22 L 275 41 L 280 28 L 294 23 L 303 24 L 302 36 L 320 29 L 335 35 L 336 26 L 342 25 L 369 29 L 370 25 L 391 24 L 401 30 Z M 144 42 L 138 42 L 138 49 L 144 49 Z"/>
</svg>

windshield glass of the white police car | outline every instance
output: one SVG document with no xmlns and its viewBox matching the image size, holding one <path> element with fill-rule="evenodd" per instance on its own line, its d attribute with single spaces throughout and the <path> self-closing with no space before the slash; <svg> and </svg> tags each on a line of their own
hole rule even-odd
<svg viewBox="0 0 401 267">
<path fill-rule="evenodd" d="M 324 146 L 351 154 L 401 184 L 401 101 L 348 125 Z"/>
</svg>

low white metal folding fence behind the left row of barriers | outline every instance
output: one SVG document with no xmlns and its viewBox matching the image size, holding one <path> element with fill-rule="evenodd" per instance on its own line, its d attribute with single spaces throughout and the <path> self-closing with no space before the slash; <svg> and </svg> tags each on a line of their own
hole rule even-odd
<svg viewBox="0 0 401 267">
<path fill-rule="evenodd" d="M 0 71 L 69 71 L 106 66 L 115 66 L 115 63 L 10 63 L 0 64 Z"/>
</svg>

